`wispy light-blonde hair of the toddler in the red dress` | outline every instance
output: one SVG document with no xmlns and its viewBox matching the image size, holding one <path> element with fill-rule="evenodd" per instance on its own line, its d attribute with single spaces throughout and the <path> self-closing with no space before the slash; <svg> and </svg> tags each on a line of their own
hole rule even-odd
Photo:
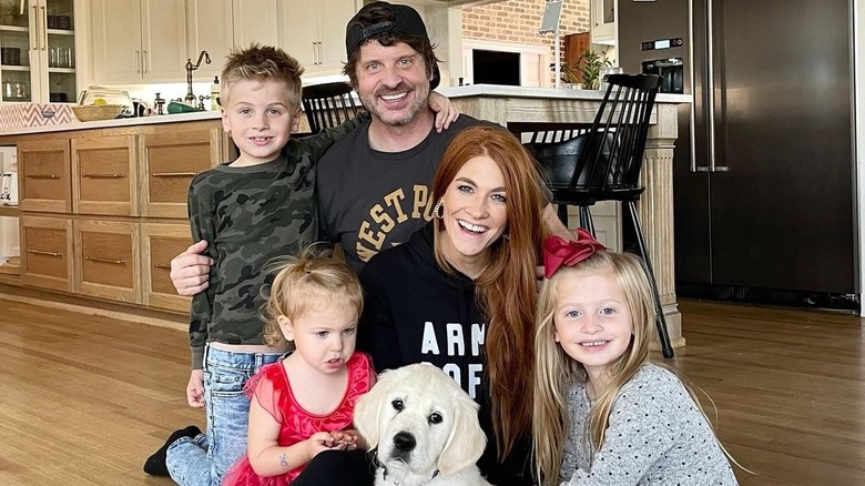
<svg viewBox="0 0 865 486">
<path fill-rule="evenodd" d="M 307 246 L 299 256 L 288 256 L 267 266 L 274 274 L 267 301 L 262 306 L 263 341 L 268 346 L 285 344 L 277 317 L 294 321 L 311 308 L 345 303 L 364 311 L 364 292 L 355 272 L 324 245 Z"/>
</svg>

